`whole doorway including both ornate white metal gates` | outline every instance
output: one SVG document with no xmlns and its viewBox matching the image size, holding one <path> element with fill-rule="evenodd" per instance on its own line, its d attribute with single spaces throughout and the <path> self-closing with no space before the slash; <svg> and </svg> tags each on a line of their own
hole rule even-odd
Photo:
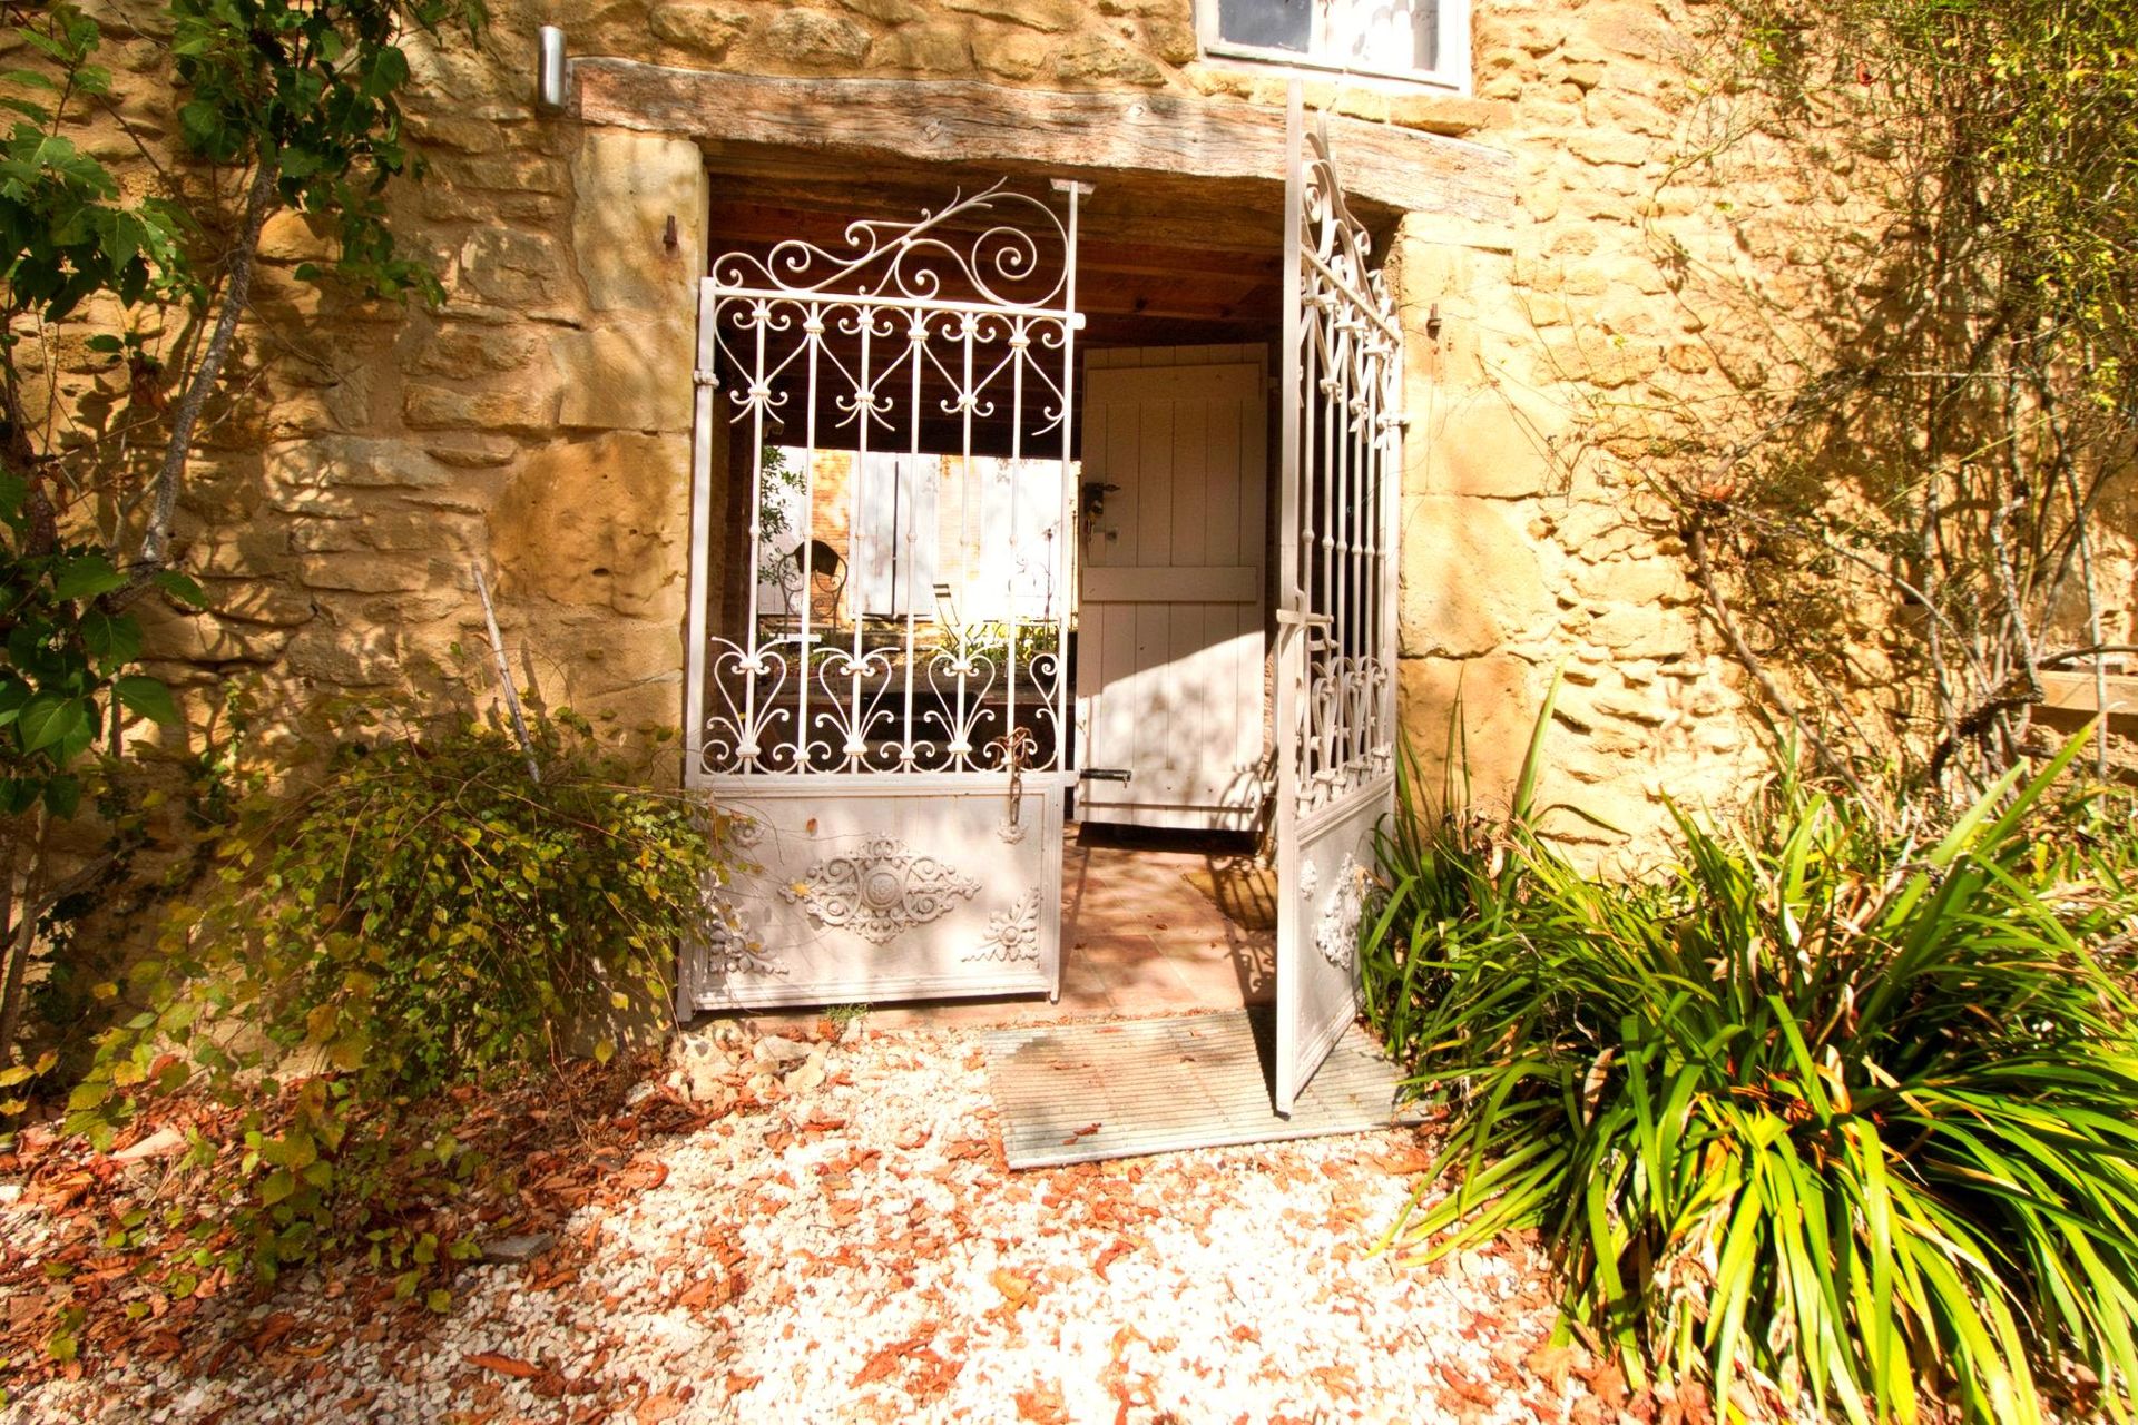
<svg viewBox="0 0 2138 1425">
<path fill-rule="evenodd" d="M 686 1008 L 1274 989 L 1289 1109 L 1355 1004 L 1400 455 L 1289 135 L 1281 201 L 712 156 L 686 778 L 746 874 Z"/>
</svg>

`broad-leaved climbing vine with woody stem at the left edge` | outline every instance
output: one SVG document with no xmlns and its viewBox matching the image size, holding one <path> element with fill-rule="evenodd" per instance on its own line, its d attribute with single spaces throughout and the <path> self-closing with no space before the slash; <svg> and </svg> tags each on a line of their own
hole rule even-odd
<svg viewBox="0 0 2138 1425">
<path fill-rule="evenodd" d="M 413 34 L 472 34 L 479 0 L 167 0 L 154 83 L 169 83 L 180 158 L 126 118 L 73 4 L 4 4 L 0 73 L 0 1090 L 28 964 L 49 917 L 109 880 L 58 835 L 118 795 L 128 716 L 175 724 L 139 669 L 145 598 L 201 607 L 175 517 L 224 393 L 261 233 L 278 212 L 334 237 L 299 280 L 366 297 L 440 295 L 387 224 L 385 190 L 421 175 L 402 135 Z M 118 130 L 154 173 L 133 197 L 92 154 Z M 86 372 L 77 387 L 64 376 Z M 113 391 L 118 395 L 113 395 Z M 56 861 L 56 840 L 71 842 Z M 0 1100 L 0 1111 L 6 1102 Z"/>
</svg>

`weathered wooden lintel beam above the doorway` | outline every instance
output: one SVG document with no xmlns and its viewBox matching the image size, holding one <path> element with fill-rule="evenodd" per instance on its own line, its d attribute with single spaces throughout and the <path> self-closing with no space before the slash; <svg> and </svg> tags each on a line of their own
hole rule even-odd
<svg viewBox="0 0 2138 1425">
<path fill-rule="evenodd" d="M 1281 184 L 1285 115 L 1178 94 L 1058 94 L 934 79 L 776 79 L 573 60 L 588 124 L 924 162 Z M 1443 135 L 1330 115 L 1345 190 L 1398 212 L 1514 222 L 1514 158 Z"/>
</svg>

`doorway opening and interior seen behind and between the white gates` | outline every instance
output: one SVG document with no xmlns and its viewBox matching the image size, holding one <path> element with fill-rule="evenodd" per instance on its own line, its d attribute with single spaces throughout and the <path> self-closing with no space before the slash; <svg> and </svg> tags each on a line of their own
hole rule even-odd
<svg viewBox="0 0 2138 1425">
<path fill-rule="evenodd" d="M 755 617 L 770 641 L 797 641 L 806 622 L 812 647 L 836 649 L 823 654 L 838 667 L 815 679 L 808 711 L 791 679 L 774 696 L 793 707 L 783 726 L 832 718 L 838 746 L 819 737 L 789 756 L 866 776 L 898 767 L 904 748 L 883 737 L 892 729 L 934 743 L 919 758 L 956 743 L 960 709 L 941 701 L 956 679 L 930 679 L 928 664 L 947 669 L 947 630 L 977 626 L 996 677 L 962 709 L 969 765 L 1097 773 L 1065 778 L 1056 812 L 1058 998 L 1024 989 L 975 1000 L 947 987 L 962 1004 L 924 1000 L 907 1013 L 1022 1021 L 1266 1002 L 1274 891 L 1257 852 L 1272 748 L 1270 372 L 1283 259 L 1272 194 L 1204 186 L 1182 201 L 1107 182 L 1078 194 L 1071 273 L 1056 246 L 1026 241 L 1054 237 L 1028 212 L 998 201 L 943 218 L 1003 184 L 998 171 L 885 171 L 768 152 L 714 154 L 710 167 L 714 267 L 746 254 L 770 276 L 815 276 L 791 269 L 804 250 L 862 256 L 915 218 L 939 220 L 924 241 L 981 259 L 964 286 L 964 273 L 936 267 L 930 280 L 909 267 L 915 286 L 883 288 L 945 303 L 939 338 L 951 342 L 917 372 L 900 365 L 909 308 L 874 323 L 825 312 L 817 333 L 800 308 L 785 325 L 770 312 L 765 331 L 725 333 L 712 370 L 721 391 L 763 378 L 768 404 L 753 423 L 731 400 L 710 402 L 721 432 L 708 453 L 708 519 L 729 538 L 708 549 L 706 637 L 740 645 Z M 1050 192 L 1037 175 L 1009 175 L 1009 190 Z M 1022 395 L 1005 378 L 960 389 L 969 370 L 983 376 L 1018 350 L 1009 320 L 947 310 L 983 297 L 996 276 L 1013 278 L 994 282 L 1003 295 L 1075 284 L 1082 320 L 1060 333 L 1071 357 L 1043 365 L 1054 329 L 1028 327 Z M 971 365 L 954 327 L 969 318 Z M 1073 404 L 1067 421 L 1060 387 Z M 864 421 L 870 402 L 881 414 Z M 1069 508 L 1056 511 L 1065 453 Z M 849 737 L 851 699 L 827 703 L 825 684 L 851 692 L 855 667 L 866 669 L 864 703 L 887 692 L 881 707 L 898 716 Z M 706 684 L 718 679 L 710 667 Z M 975 664 L 969 692 L 979 679 Z M 701 718 L 748 692 L 708 690 Z M 1020 748 L 1009 758 L 990 750 L 1003 737 Z M 845 750 L 862 741 L 872 750 L 849 761 Z"/>
</svg>

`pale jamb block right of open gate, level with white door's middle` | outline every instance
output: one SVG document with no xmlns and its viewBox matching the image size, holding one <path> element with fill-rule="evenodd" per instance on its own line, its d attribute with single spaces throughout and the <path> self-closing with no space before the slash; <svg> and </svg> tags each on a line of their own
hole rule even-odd
<svg viewBox="0 0 2138 1425">
<path fill-rule="evenodd" d="M 1529 530 L 1501 500 L 1407 498 L 1398 635 L 1407 656 L 1469 658 L 1544 620 L 1552 594 Z"/>
</svg>

